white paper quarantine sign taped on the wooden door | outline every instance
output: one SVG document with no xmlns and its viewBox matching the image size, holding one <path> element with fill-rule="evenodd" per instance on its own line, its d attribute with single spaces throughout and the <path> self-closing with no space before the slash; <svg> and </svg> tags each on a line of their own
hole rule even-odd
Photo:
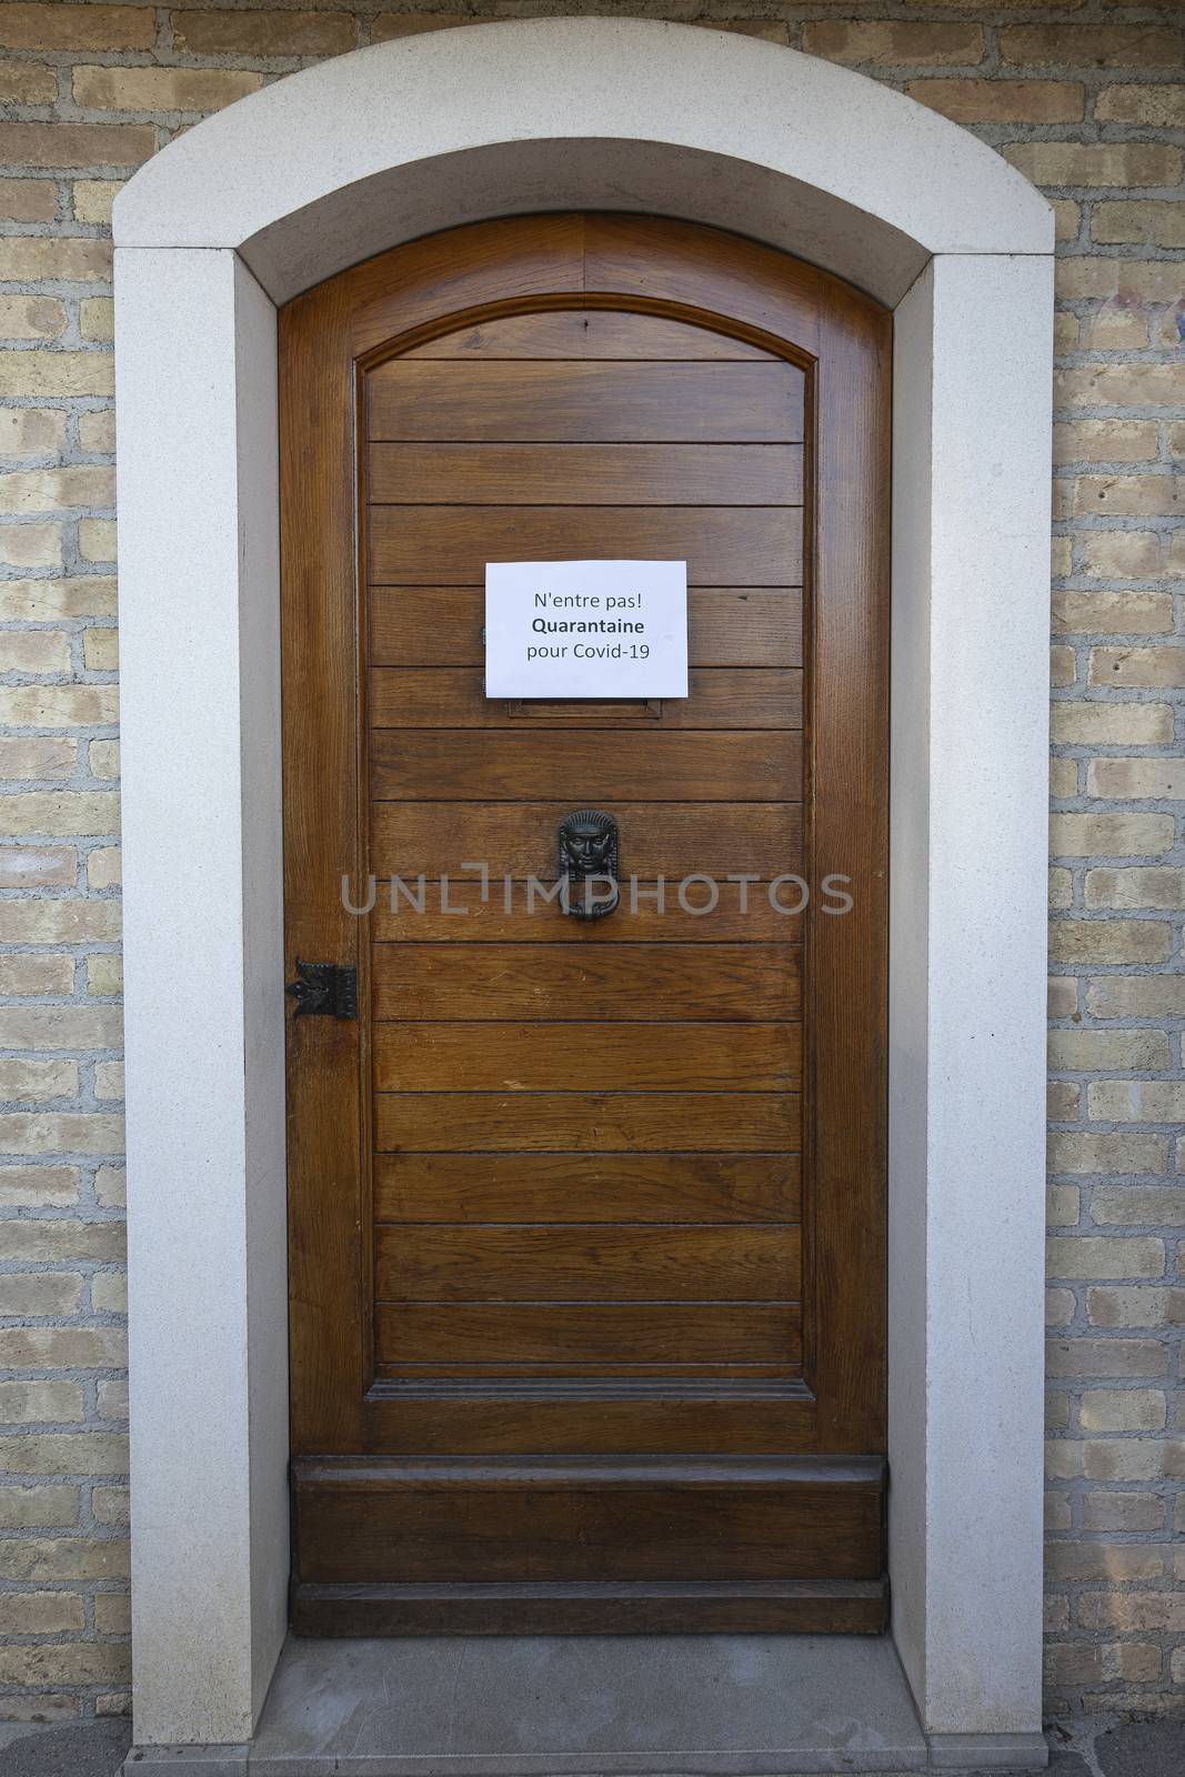
<svg viewBox="0 0 1185 1777">
<path fill-rule="evenodd" d="M 487 697 L 686 697 L 686 562 L 489 562 Z"/>
</svg>

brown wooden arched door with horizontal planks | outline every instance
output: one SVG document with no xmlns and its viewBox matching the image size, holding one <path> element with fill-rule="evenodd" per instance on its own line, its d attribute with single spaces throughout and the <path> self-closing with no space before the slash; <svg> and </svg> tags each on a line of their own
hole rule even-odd
<svg viewBox="0 0 1185 1777">
<path fill-rule="evenodd" d="M 282 311 L 302 1631 L 885 1622 L 888 347 L 616 215 Z M 485 697 L 485 563 L 574 558 L 686 558 L 688 698 Z"/>
</svg>

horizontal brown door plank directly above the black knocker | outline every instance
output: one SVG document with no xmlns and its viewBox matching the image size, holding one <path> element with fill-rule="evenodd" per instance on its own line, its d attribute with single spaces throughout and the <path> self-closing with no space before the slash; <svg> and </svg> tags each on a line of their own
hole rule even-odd
<svg viewBox="0 0 1185 1777">
<path fill-rule="evenodd" d="M 799 801 L 799 734 L 481 734 L 378 729 L 370 793 L 382 800 Z"/>
</svg>

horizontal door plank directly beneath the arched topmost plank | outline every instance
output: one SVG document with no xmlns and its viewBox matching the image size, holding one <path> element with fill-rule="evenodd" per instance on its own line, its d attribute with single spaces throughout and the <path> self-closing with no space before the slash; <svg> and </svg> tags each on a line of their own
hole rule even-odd
<svg viewBox="0 0 1185 1777">
<path fill-rule="evenodd" d="M 764 363 L 455 363 L 366 379 L 368 437 L 396 442 L 798 444 L 803 373 Z"/>
</svg>

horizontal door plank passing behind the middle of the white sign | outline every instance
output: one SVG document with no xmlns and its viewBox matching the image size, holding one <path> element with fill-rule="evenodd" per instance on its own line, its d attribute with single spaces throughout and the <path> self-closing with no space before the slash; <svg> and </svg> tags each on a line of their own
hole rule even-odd
<svg viewBox="0 0 1185 1777">
<path fill-rule="evenodd" d="M 485 666 L 483 586 L 373 586 L 368 602 L 371 666 Z M 796 586 L 693 586 L 691 670 L 801 666 L 801 602 Z M 675 702 L 680 700 L 666 698 L 664 709 Z M 645 714 L 634 716 L 618 704 L 618 720 L 645 720 Z"/>
</svg>

